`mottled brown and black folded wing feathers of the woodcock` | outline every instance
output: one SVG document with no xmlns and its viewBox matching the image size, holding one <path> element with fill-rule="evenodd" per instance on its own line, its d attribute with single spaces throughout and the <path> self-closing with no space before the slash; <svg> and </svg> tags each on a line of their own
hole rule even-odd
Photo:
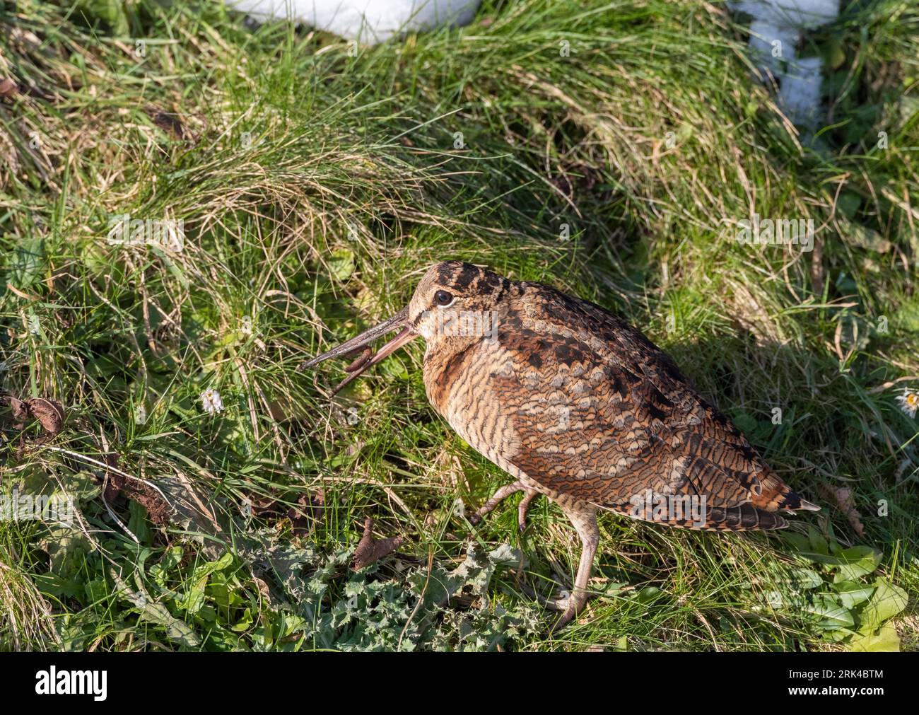
<svg viewBox="0 0 919 715">
<path fill-rule="evenodd" d="M 772 512 L 800 499 L 664 352 L 592 303 L 517 286 L 488 385 L 520 439 L 517 469 L 573 499 L 675 526 L 785 526 Z M 653 518 L 646 494 L 704 496 L 704 523 L 688 511 Z"/>
</svg>

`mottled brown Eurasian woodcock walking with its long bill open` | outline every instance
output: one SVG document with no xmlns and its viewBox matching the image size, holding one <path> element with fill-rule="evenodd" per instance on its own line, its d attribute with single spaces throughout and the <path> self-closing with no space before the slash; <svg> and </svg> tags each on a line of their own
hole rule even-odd
<svg viewBox="0 0 919 715">
<path fill-rule="evenodd" d="M 399 334 L 371 356 L 380 335 Z M 674 361 L 600 306 L 539 283 L 459 261 L 431 267 L 408 306 L 313 358 L 318 365 L 365 348 L 337 390 L 418 335 L 434 408 L 472 448 L 515 482 L 509 494 L 545 494 L 583 544 L 571 596 L 556 627 L 587 600 L 597 512 L 682 528 L 740 531 L 787 526 L 780 512 L 817 511 L 769 470 Z"/>
</svg>

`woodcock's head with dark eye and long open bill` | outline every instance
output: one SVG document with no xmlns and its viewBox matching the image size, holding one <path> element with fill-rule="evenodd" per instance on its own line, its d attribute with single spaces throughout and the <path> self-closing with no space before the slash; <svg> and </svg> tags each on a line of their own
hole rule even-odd
<svg viewBox="0 0 919 715">
<path fill-rule="evenodd" d="M 360 351 L 346 368 L 349 373 L 334 392 L 355 380 L 365 370 L 390 356 L 419 335 L 427 352 L 453 353 L 464 344 L 493 339 L 504 312 L 510 281 L 484 268 L 461 261 L 444 261 L 430 267 L 418 283 L 409 304 L 388 320 L 351 338 L 307 362 L 312 368 L 330 358 Z M 372 353 L 369 344 L 394 331 L 399 333 Z M 447 348 L 447 349 L 444 349 Z"/>
</svg>

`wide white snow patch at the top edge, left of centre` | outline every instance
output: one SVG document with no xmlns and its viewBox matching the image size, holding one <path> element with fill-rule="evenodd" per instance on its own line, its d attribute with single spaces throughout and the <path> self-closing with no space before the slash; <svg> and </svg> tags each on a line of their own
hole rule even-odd
<svg viewBox="0 0 919 715">
<path fill-rule="evenodd" d="M 256 19 L 290 18 L 346 40 L 376 44 L 395 35 L 468 25 L 481 0 L 224 0 Z"/>
</svg>

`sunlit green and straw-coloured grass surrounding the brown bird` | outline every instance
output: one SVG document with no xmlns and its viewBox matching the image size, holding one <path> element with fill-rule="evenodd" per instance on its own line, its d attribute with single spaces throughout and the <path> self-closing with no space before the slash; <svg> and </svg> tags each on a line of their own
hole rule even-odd
<svg viewBox="0 0 919 715">
<path fill-rule="evenodd" d="M 47 441 L 0 414 L 0 478 L 79 508 L 0 522 L 0 647 L 919 647 L 895 400 L 919 387 L 919 16 L 845 5 L 805 42 L 834 60 L 802 144 L 720 6 L 486 0 L 352 57 L 217 4 L 0 3 L 0 78 L 32 87 L 0 98 L 0 387 L 67 412 Z M 812 218 L 814 252 L 738 244 L 754 212 Z M 124 213 L 182 219 L 184 249 L 108 244 Z M 331 403 L 339 367 L 299 368 L 447 258 L 626 316 L 823 511 L 768 536 L 604 516 L 597 596 L 547 635 L 534 593 L 579 542 L 545 500 L 522 537 L 511 504 L 459 516 L 508 478 L 434 414 L 421 346 Z M 404 542 L 351 573 L 367 516 Z"/>
</svg>

